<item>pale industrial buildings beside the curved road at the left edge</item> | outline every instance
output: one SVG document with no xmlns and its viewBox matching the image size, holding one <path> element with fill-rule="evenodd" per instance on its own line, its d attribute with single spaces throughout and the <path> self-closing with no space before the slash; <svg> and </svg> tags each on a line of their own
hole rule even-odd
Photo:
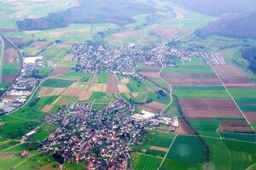
<svg viewBox="0 0 256 170">
<path fill-rule="evenodd" d="M 0 98 L 0 115 L 15 111 L 15 109 L 26 103 L 26 99 L 39 84 L 39 80 L 36 77 L 32 77 L 32 73 L 38 68 L 44 67 L 42 59 L 42 57 L 40 59 L 37 57 L 23 59 L 20 76 L 15 79 Z"/>
</svg>

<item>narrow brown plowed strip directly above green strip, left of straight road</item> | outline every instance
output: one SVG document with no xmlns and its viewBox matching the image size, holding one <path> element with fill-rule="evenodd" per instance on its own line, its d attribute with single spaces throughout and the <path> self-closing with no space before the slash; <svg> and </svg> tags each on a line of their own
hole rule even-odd
<svg viewBox="0 0 256 170">
<path fill-rule="evenodd" d="M 166 82 L 174 86 L 217 86 L 221 85 L 218 79 L 215 78 L 165 78 Z"/>
</svg>

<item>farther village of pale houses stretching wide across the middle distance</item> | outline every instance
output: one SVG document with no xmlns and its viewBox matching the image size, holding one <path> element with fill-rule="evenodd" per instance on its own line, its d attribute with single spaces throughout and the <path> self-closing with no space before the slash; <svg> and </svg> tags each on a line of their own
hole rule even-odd
<svg viewBox="0 0 256 170">
<path fill-rule="evenodd" d="M 70 51 L 74 60 L 78 61 L 76 71 L 93 73 L 108 71 L 113 74 L 138 77 L 137 62 L 145 65 L 177 67 L 175 59 L 191 61 L 195 57 L 202 58 L 208 65 L 225 65 L 222 54 L 195 51 L 183 51 L 172 48 L 165 43 L 157 43 L 152 48 L 140 48 L 134 44 L 126 44 L 121 48 L 94 47 L 89 44 L 74 44 Z"/>
</svg>

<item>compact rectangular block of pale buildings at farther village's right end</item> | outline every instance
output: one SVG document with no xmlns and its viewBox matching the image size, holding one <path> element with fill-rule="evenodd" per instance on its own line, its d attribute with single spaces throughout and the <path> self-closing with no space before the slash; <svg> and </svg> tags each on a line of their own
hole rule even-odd
<svg viewBox="0 0 256 170">
<path fill-rule="evenodd" d="M 205 59 L 207 65 L 226 65 L 224 56 L 221 53 L 202 53 L 201 57 Z"/>
</svg>

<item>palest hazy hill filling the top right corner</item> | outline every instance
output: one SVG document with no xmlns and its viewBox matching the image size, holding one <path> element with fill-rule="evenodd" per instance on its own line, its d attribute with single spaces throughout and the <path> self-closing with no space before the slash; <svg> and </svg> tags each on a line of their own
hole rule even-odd
<svg viewBox="0 0 256 170">
<path fill-rule="evenodd" d="M 256 11 L 255 0 L 162 0 L 177 3 L 183 8 L 212 16 L 244 14 Z"/>
</svg>

